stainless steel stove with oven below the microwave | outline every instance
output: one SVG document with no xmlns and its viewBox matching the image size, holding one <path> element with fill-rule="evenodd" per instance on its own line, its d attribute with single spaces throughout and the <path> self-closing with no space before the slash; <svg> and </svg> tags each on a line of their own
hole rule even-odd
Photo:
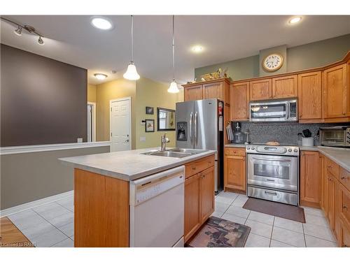
<svg viewBox="0 0 350 262">
<path fill-rule="evenodd" d="M 247 145 L 247 195 L 299 204 L 299 147 Z"/>
</svg>

